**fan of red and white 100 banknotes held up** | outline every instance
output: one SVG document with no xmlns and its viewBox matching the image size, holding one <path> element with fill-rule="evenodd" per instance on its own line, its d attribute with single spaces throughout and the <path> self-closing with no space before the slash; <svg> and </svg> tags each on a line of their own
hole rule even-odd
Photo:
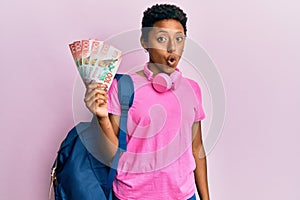
<svg viewBox="0 0 300 200">
<path fill-rule="evenodd" d="M 122 60 L 122 52 L 112 45 L 96 39 L 69 44 L 83 82 L 104 84 L 108 90 Z"/>
</svg>

